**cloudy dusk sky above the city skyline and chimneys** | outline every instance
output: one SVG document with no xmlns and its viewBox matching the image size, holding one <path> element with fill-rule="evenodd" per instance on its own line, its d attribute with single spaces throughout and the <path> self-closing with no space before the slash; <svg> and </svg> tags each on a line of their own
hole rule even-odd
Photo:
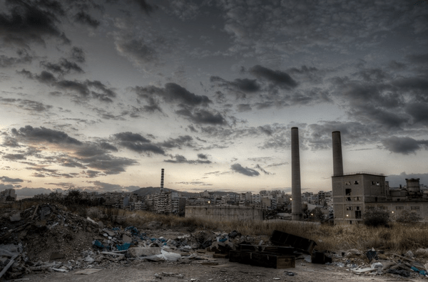
<svg viewBox="0 0 428 282">
<path fill-rule="evenodd" d="M 0 190 L 428 184 L 428 2 L 0 0 Z"/>
</svg>

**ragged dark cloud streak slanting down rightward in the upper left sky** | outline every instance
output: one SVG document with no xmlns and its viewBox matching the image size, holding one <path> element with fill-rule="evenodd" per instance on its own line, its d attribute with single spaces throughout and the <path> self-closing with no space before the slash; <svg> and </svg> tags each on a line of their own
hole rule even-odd
<svg viewBox="0 0 428 282">
<path fill-rule="evenodd" d="M 65 59 L 62 61 L 62 65 L 53 65 L 48 64 L 49 67 L 55 69 L 55 71 L 78 71 L 76 63 L 71 63 Z M 58 90 L 72 91 L 78 93 L 81 97 L 84 98 L 95 98 L 103 102 L 111 103 L 113 100 L 111 98 L 116 97 L 116 93 L 111 89 L 107 88 L 106 85 L 101 83 L 99 80 L 58 80 L 52 73 L 48 71 L 42 71 L 40 75 L 33 74 L 30 71 L 23 69 L 22 71 L 17 71 L 21 75 L 25 75 L 27 78 L 39 80 L 40 83 L 45 83 L 47 85 L 52 85 Z M 98 90 L 98 92 L 96 92 Z"/>
</svg>

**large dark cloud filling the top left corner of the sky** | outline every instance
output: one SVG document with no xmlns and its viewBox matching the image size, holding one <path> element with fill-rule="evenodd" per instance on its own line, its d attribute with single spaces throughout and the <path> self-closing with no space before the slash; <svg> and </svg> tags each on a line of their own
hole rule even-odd
<svg viewBox="0 0 428 282">
<path fill-rule="evenodd" d="M 29 42 L 45 44 L 45 37 L 69 43 L 57 26 L 59 19 L 55 12 L 61 15 L 61 4 L 58 1 L 48 1 L 45 5 L 40 5 L 43 1 L 37 2 L 6 0 L 9 10 L 0 13 L 0 36 L 3 40 L 24 48 Z"/>
</svg>

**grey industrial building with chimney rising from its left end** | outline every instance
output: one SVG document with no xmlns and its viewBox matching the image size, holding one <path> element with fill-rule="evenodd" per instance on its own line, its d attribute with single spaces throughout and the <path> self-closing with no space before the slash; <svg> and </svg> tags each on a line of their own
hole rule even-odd
<svg viewBox="0 0 428 282">
<path fill-rule="evenodd" d="M 372 172 L 343 173 L 340 132 L 332 132 L 332 197 L 335 224 L 362 221 L 367 209 L 383 209 L 394 219 L 403 210 L 416 212 L 428 222 L 428 194 L 419 179 L 406 179 L 406 187 L 390 188 L 383 174 Z"/>
</svg>

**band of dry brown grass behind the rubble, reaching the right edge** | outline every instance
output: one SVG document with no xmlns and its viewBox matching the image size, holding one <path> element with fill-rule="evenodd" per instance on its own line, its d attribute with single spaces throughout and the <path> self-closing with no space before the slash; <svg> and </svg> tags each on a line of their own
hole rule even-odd
<svg viewBox="0 0 428 282">
<path fill-rule="evenodd" d="M 1 209 L 28 209 L 39 202 L 16 202 Z M 212 230 L 230 232 L 236 230 L 245 236 L 270 236 L 272 231 L 279 230 L 317 242 L 317 249 L 339 251 L 347 249 L 383 249 L 404 253 L 428 247 L 428 225 L 404 225 L 392 223 L 389 227 L 367 227 L 359 225 L 312 225 L 298 224 L 291 221 L 257 223 L 251 221 L 216 222 L 203 219 L 184 218 L 175 215 L 154 214 L 149 211 L 126 211 L 123 209 L 106 209 L 105 207 L 89 208 L 78 211 L 80 215 L 103 220 L 111 226 L 136 226 L 142 228 L 151 221 L 160 221 L 165 229 L 184 228 L 188 232 Z"/>
</svg>

